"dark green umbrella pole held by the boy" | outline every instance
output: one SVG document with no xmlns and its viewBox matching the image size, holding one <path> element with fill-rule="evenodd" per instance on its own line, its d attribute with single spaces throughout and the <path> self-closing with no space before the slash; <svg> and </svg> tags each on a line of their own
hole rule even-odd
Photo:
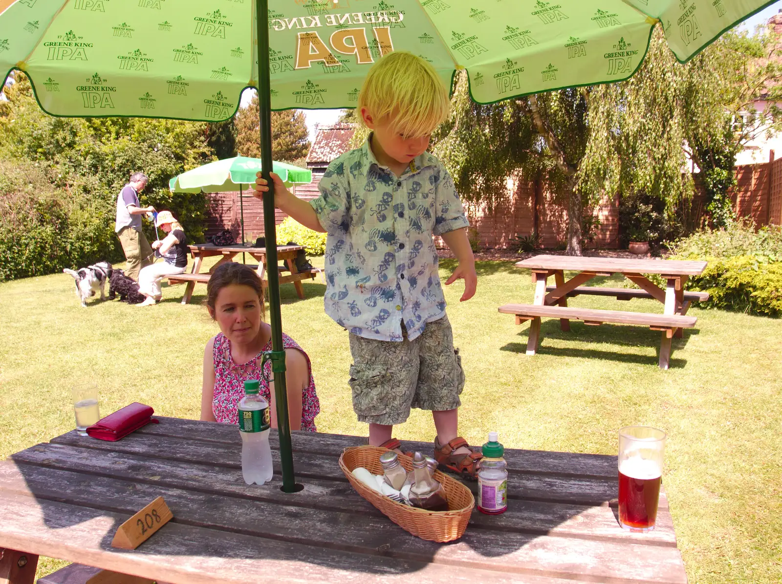
<svg viewBox="0 0 782 584">
<path fill-rule="evenodd" d="M 269 80 L 268 22 L 268 0 L 256 0 L 261 175 L 269 183 L 269 191 L 264 195 L 264 236 L 266 238 L 266 278 L 269 289 L 269 324 L 271 324 L 271 371 L 274 372 L 274 396 L 276 397 L 280 464 L 282 466 L 282 491 L 284 493 L 296 493 L 296 491 L 303 489 L 303 486 L 296 485 L 293 473 L 291 429 L 288 419 L 288 391 L 285 384 L 285 349 L 282 346 L 277 235 L 274 225 L 274 184 L 269 176 L 273 166 L 271 160 L 271 81 Z"/>
</svg>

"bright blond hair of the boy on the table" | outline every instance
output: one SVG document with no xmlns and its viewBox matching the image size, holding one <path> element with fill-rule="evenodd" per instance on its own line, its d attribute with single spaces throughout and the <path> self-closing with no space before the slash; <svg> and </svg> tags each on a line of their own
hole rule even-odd
<svg viewBox="0 0 782 584">
<path fill-rule="evenodd" d="M 393 116 L 394 131 L 405 138 L 420 138 L 448 117 L 450 101 L 434 67 L 410 52 L 395 51 L 369 70 L 358 95 L 359 112 L 362 107 L 376 121 Z"/>
</svg>

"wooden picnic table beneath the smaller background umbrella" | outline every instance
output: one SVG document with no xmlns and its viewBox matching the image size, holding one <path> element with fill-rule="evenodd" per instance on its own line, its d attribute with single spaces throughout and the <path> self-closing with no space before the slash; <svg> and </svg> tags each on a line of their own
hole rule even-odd
<svg viewBox="0 0 782 584">
<path fill-rule="evenodd" d="M 192 298 L 193 288 L 196 284 L 206 284 L 209 281 L 210 274 L 221 263 L 230 262 L 239 253 L 249 253 L 258 262 L 256 271 L 260 280 L 264 283 L 264 287 L 267 285 L 265 278 L 266 271 L 268 269 L 266 262 L 266 248 L 255 247 L 252 245 L 214 245 L 213 243 L 199 243 L 196 245 L 188 245 L 190 248 L 190 255 L 193 257 L 192 269 L 189 274 L 177 274 L 174 276 L 168 276 L 168 282 L 170 285 L 187 284 L 185 287 L 185 294 L 182 296 L 182 304 L 187 304 Z M 302 280 L 314 279 L 315 275 L 320 271 L 317 268 L 311 270 L 299 271 L 296 268 L 296 254 L 301 249 L 304 249 L 303 245 L 278 245 L 277 246 L 277 259 L 285 261 L 285 271 L 289 271 L 290 274 L 279 276 L 280 284 L 292 283 L 296 287 L 296 295 L 300 299 L 304 299 L 304 288 L 301 285 Z M 210 271 L 206 273 L 201 272 L 201 264 L 205 257 L 222 256 L 221 260 L 215 263 Z M 278 267 L 281 271 L 282 267 Z"/>
</svg>

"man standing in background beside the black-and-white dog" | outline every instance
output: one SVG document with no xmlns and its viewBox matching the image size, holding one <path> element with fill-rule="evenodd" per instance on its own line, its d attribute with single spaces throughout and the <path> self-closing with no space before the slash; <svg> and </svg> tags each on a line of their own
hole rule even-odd
<svg viewBox="0 0 782 584">
<path fill-rule="evenodd" d="M 146 174 L 135 172 L 117 196 L 117 222 L 114 224 L 114 231 L 120 238 L 127 260 L 125 275 L 135 281 L 138 281 L 138 272 L 142 267 L 152 263 L 152 247 L 142 232 L 142 215 L 154 213 L 155 208 L 151 205 L 142 207 L 138 202 L 138 193 L 144 190 L 147 181 L 149 178 Z"/>
</svg>

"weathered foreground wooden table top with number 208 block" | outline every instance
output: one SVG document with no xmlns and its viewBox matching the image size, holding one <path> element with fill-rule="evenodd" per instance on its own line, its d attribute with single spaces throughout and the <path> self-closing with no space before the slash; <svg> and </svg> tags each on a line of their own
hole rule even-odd
<svg viewBox="0 0 782 584">
<path fill-rule="evenodd" d="M 619 527 L 616 457 L 506 449 L 508 511 L 475 511 L 461 539 L 439 544 L 350 487 L 339 455 L 363 442 L 292 432 L 304 489 L 286 494 L 274 430 L 263 486 L 242 480 L 235 425 L 161 417 L 119 442 L 68 432 L 0 462 L 0 547 L 33 571 L 41 554 L 188 584 L 687 582 L 664 492 L 655 531 Z M 157 496 L 174 518 L 136 550 L 112 548 L 117 527 Z"/>
</svg>

